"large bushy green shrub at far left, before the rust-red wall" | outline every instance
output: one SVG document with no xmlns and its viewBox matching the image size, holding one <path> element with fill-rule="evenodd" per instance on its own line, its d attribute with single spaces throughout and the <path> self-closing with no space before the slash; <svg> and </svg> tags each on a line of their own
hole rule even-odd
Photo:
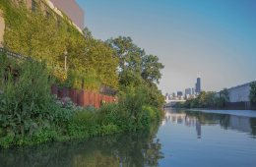
<svg viewBox="0 0 256 167">
<path fill-rule="evenodd" d="M 29 136 L 71 117 L 70 110 L 56 104 L 50 94 L 51 80 L 44 63 L 28 60 L 19 77 L 10 72 L 0 95 L 0 127 L 16 138 Z"/>
</svg>

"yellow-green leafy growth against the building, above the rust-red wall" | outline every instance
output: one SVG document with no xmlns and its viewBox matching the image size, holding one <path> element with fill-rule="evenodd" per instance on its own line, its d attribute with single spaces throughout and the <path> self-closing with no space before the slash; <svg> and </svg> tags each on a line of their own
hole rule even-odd
<svg viewBox="0 0 256 167">
<path fill-rule="evenodd" d="M 40 4 L 32 11 L 26 0 L 19 4 L 1 0 L 0 9 L 6 24 L 4 47 L 46 61 L 60 84 L 94 90 L 101 84 L 117 88 L 118 59 L 114 51 L 92 35 L 85 37 L 67 17 L 58 16 L 50 8 L 42 10 Z M 65 51 L 68 73 L 64 70 Z"/>
</svg>

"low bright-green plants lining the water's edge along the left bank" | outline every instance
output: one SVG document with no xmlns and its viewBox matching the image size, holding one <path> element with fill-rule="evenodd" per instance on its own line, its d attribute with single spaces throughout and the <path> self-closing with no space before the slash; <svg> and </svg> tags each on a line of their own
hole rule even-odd
<svg viewBox="0 0 256 167">
<path fill-rule="evenodd" d="M 47 125 L 32 134 L 3 134 L 1 129 L 0 146 L 2 148 L 20 147 L 52 141 L 72 139 L 89 139 L 93 137 L 111 136 L 114 134 L 147 131 L 152 124 L 160 121 L 161 111 L 143 106 L 139 119 L 129 116 L 120 104 L 106 104 L 100 109 L 87 108 L 66 110 L 66 121 Z M 44 124 L 47 124 L 46 122 Z"/>
</svg>

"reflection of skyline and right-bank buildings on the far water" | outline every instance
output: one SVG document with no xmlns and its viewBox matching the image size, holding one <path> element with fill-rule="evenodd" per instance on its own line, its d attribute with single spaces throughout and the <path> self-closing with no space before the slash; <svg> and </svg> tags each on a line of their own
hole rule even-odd
<svg viewBox="0 0 256 167">
<path fill-rule="evenodd" d="M 162 125 L 165 125 L 167 122 L 184 124 L 186 127 L 195 127 L 198 139 L 201 139 L 202 136 L 201 126 L 205 125 L 220 125 L 225 130 L 229 129 L 256 136 L 256 118 L 246 116 L 167 110 L 165 111 Z"/>
</svg>

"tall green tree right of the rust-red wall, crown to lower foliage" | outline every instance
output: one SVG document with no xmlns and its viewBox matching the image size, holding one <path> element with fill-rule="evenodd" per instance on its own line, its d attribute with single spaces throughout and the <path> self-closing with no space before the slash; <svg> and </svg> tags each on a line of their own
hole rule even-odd
<svg viewBox="0 0 256 167">
<path fill-rule="evenodd" d="M 140 87 L 147 91 L 149 104 L 161 107 L 164 97 L 158 89 L 163 65 L 159 58 L 147 55 L 145 50 L 137 46 L 131 37 L 119 36 L 106 41 L 115 50 L 119 58 L 119 84 L 123 91 L 127 86 Z"/>
</svg>

